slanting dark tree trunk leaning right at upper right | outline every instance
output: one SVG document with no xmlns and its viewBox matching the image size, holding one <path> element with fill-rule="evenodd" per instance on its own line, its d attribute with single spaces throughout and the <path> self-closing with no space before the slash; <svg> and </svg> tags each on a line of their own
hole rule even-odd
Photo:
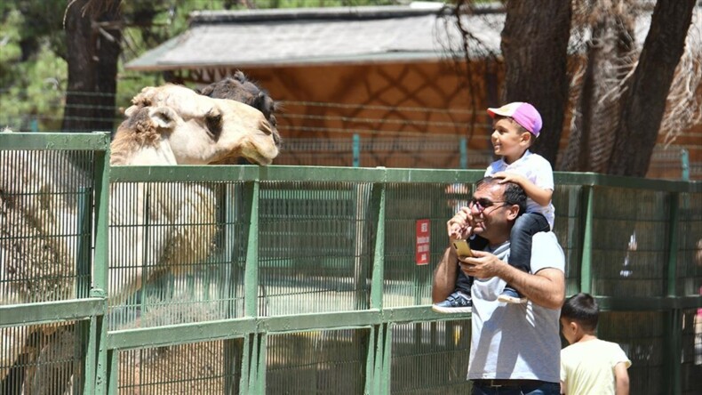
<svg viewBox="0 0 702 395">
<path fill-rule="evenodd" d="M 696 0 L 658 0 L 632 84 L 625 95 L 608 173 L 644 176 L 666 97 L 682 56 Z"/>
</svg>

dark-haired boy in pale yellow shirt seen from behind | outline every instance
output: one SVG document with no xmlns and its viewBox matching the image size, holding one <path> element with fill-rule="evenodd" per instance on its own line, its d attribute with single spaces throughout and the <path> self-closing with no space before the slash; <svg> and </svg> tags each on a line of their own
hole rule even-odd
<svg viewBox="0 0 702 395">
<path fill-rule="evenodd" d="M 627 395 L 631 360 L 617 343 L 594 335 L 599 317 L 589 294 L 576 294 L 561 309 L 561 333 L 570 345 L 561 351 L 561 393 Z"/>
</svg>

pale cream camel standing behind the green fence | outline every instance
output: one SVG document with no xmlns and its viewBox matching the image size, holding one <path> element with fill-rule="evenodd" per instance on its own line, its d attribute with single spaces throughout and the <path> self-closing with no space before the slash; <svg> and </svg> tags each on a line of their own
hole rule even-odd
<svg viewBox="0 0 702 395">
<path fill-rule="evenodd" d="M 258 109 L 203 96 L 179 85 L 144 88 L 132 99 L 125 116 L 110 145 L 110 165 L 208 165 L 238 157 L 268 165 L 278 154 L 275 134 Z M 15 154 L 12 161 L 7 161 L 9 168 L 0 173 L 0 303 L 76 297 L 72 278 L 77 237 L 47 235 L 57 230 L 78 234 L 76 199 L 61 192 L 75 189 L 76 182 L 87 177 L 62 153 L 44 152 L 38 156 L 40 163 L 31 152 Z M 148 280 L 153 273 L 142 273 L 144 267 L 168 268 L 203 260 L 216 232 L 215 195 L 210 189 L 174 183 L 159 188 L 137 184 L 134 189 L 124 197 L 122 186 L 110 185 L 110 305 L 124 300 Z M 177 205 L 169 204 L 172 197 L 179 198 Z M 145 223 L 155 225 L 148 227 L 148 237 L 146 226 L 133 226 Z M 189 223 L 205 226 L 192 229 L 184 225 Z M 57 280 L 43 276 L 51 270 L 58 275 L 48 278 Z M 48 330 L 55 331 L 56 326 Z M 23 352 L 31 331 L 9 327 L 0 334 L 4 351 L 0 367 L 10 367 Z M 39 359 L 51 358 L 47 356 L 60 353 L 57 350 L 72 350 L 63 340 L 49 343 L 44 349 Z M 28 377 L 26 385 L 38 388 L 36 377 L 48 375 L 41 368 L 37 368 L 35 377 Z M 0 369 L 0 380 L 8 370 Z M 58 389 L 58 393 L 65 390 Z"/>
</svg>

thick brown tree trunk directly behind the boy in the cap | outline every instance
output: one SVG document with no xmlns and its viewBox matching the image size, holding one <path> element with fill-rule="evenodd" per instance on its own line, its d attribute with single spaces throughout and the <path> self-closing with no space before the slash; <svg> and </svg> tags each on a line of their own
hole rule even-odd
<svg viewBox="0 0 702 395">
<path fill-rule="evenodd" d="M 533 150 L 555 165 L 568 102 L 570 1 L 513 0 L 506 6 L 504 102 L 529 101 L 538 109 L 544 125 Z"/>
</svg>

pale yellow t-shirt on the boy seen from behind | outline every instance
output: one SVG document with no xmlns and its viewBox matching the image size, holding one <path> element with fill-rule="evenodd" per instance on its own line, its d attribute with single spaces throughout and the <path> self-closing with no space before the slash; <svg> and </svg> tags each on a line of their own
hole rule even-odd
<svg viewBox="0 0 702 395">
<path fill-rule="evenodd" d="M 561 381 L 569 394 L 614 395 L 614 367 L 631 366 L 617 343 L 593 339 L 574 343 L 561 351 Z"/>
</svg>

